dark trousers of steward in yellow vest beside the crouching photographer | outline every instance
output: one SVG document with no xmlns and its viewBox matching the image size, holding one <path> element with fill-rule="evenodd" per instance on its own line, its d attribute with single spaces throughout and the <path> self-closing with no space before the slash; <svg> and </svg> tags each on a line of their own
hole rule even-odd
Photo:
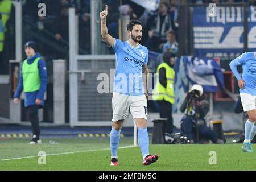
<svg viewBox="0 0 256 182">
<path fill-rule="evenodd" d="M 164 124 L 164 133 L 172 133 L 174 130 L 172 120 L 172 104 L 168 101 L 158 101 L 160 109 L 160 118 L 166 118 L 167 122 Z"/>
</svg>

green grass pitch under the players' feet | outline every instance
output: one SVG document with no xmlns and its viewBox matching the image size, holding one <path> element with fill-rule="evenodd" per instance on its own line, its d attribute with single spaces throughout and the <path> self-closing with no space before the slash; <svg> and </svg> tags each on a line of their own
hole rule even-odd
<svg viewBox="0 0 256 182">
<path fill-rule="evenodd" d="M 256 169 L 253 162 L 256 153 L 241 152 L 241 144 L 151 144 L 151 154 L 158 154 L 159 159 L 158 162 L 150 166 L 142 165 L 141 150 L 138 146 L 121 148 L 118 150 L 119 166 L 110 166 L 108 137 L 43 138 L 42 140 L 42 144 L 30 145 L 27 138 L 1 139 L 0 170 L 172 171 Z M 49 140 L 55 140 L 59 144 L 50 144 Z M 123 137 L 119 147 L 132 146 L 132 144 L 132 137 Z M 39 151 L 45 151 L 46 155 L 49 155 L 46 156 L 45 165 L 38 164 Z M 216 165 L 209 164 L 210 151 L 216 152 Z"/>
</svg>

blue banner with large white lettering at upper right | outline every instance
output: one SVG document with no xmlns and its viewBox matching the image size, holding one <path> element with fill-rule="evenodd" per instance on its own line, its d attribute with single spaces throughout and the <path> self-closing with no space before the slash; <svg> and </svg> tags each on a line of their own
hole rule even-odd
<svg viewBox="0 0 256 182">
<path fill-rule="evenodd" d="M 193 7 L 194 55 L 237 57 L 243 53 L 243 7 L 217 7 L 209 16 L 208 7 Z M 256 49 L 256 7 L 248 8 L 248 48 Z"/>
</svg>

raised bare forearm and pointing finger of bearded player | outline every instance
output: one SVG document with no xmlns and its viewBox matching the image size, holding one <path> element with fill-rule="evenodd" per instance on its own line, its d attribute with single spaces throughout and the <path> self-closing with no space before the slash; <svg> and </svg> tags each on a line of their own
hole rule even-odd
<svg viewBox="0 0 256 182">
<path fill-rule="evenodd" d="M 108 33 L 108 28 L 106 27 L 106 17 L 108 16 L 108 5 L 106 5 L 105 10 L 101 11 L 100 18 L 101 18 L 101 37 L 105 40 L 109 46 L 114 46 L 114 39 Z"/>
</svg>

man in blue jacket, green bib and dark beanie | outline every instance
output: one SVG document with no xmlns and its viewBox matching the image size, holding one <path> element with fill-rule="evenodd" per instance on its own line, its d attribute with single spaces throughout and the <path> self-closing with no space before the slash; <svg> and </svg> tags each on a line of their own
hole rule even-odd
<svg viewBox="0 0 256 182">
<path fill-rule="evenodd" d="M 18 88 L 14 94 L 14 103 L 18 104 L 20 94 L 25 93 L 25 107 L 32 125 L 33 138 L 30 144 L 41 143 L 38 109 L 44 106 L 44 93 L 47 87 L 46 63 L 36 52 L 36 44 L 29 41 L 24 46 L 27 59 L 20 68 Z"/>
</svg>

